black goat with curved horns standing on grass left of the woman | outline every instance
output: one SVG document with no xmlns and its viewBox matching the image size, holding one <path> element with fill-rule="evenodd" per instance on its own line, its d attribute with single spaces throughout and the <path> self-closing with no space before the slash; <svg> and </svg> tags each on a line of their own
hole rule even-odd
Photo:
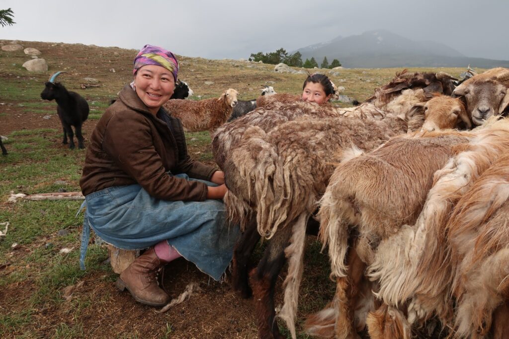
<svg viewBox="0 0 509 339">
<path fill-rule="evenodd" d="M 55 78 L 63 72 L 56 72 L 49 81 L 45 82 L 46 86 L 41 93 L 44 100 L 54 100 L 58 106 L 58 113 L 62 128 L 64 130 L 63 143 L 67 144 L 67 135 L 69 135 L 69 148 L 74 148 L 74 133 L 71 126 L 76 130 L 76 139 L 78 139 L 78 148 L 84 148 L 83 136 L 81 135 L 81 125 L 89 116 L 89 104 L 76 92 L 68 91 L 60 82 L 55 83 Z"/>
</svg>

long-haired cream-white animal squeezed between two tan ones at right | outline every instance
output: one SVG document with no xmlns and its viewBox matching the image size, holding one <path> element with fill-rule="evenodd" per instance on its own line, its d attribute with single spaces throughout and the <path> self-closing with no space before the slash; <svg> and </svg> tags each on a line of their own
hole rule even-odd
<svg viewBox="0 0 509 339">
<path fill-rule="evenodd" d="M 367 269 L 370 279 L 380 283 L 378 295 L 384 302 L 397 306 L 411 299 L 410 324 L 433 314 L 447 326 L 451 322 L 454 265 L 446 244 L 446 225 L 458 199 L 475 179 L 509 151 L 509 121 L 491 121 L 493 127 L 474 130 L 475 141 L 435 172 L 433 188 L 415 226 L 403 226 L 382 240 Z"/>
</svg>

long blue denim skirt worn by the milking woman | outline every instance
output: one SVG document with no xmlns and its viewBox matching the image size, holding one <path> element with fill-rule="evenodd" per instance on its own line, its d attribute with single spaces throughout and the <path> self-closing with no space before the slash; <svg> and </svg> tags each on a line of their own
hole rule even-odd
<svg viewBox="0 0 509 339">
<path fill-rule="evenodd" d="M 176 176 L 198 180 L 186 174 Z M 198 181 L 217 186 L 209 181 Z M 186 260 L 219 280 L 232 260 L 240 234 L 238 225 L 227 223 L 220 200 L 160 200 L 138 184 L 94 192 L 86 197 L 82 206 L 85 205 L 82 269 L 92 228 L 102 240 L 123 250 L 142 250 L 167 240 Z"/>
</svg>

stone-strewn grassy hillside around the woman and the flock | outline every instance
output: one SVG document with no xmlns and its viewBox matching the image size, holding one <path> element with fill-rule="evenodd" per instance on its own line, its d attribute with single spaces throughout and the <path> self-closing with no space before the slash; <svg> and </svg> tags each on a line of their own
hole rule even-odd
<svg viewBox="0 0 509 339">
<path fill-rule="evenodd" d="M 7 202 L 11 192 L 79 191 L 86 151 L 69 150 L 61 143 L 56 104 L 40 98 L 49 76 L 56 71 L 67 72 L 59 80 L 88 100 L 91 116 L 83 126 L 87 146 L 109 101 L 131 81 L 132 60 L 137 53 L 118 47 L 19 43 L 39 49 L 49 70 L 28 72 L 21 67 L 30 59 L 23 51 L 0 51 L 0 134 L 9 138 L 5 142 L 9 155 L 0 156 L 0 224 L 10 224 L 7 235 L 0 236 L 0 337 L 256 337 L 251 300 L 237 297 L 228 278 L 220 284 L 183 259 L 172 262 L 164 274 L 164 286 L 171 296 L 180 294 L 190 282 L 199 284 L 201 291 L 167 313 L 157 314 L 152 307 L 137 304 L 130 295 L 114 288 L 116 274 L 105 262 L 107 253 L 102 246 L 89 247 L 87 271 L 79 270 L 82 215 L 75 214 L 80 201 Z M 305 79 L 303 75 L 276 73 L 273 65 L 246 61 L 186 56 L 179 56 L 179 61 L 179 78 L 194 90 L 194 100 L 218 97 L 230 87 L 239 91 L 240 99 L 253 99 L 260 93 L 259 86 L 265 84 L 274 86 L 278 93 L 298 94 Z M 331 79 L 346 87 L 345 95 L 362 101 L 401 70 L 345 69 Z M 445 71 L 453 76 L 464 71 L 411 69 L 415 70 Z M 81 89 L 86 77 L 99 80 L 100 86 Z M 206 85 L 206 81 L 214 84 Z M 212 163 L 208 132 L 190 133 L 187 140 L 191 156 Z M 4 227 L 0 225 L 0 231 Z M 320 253 L 321 244 L 314 237 L 307 243 L 298 328 L 307 314 L 330 300 L 335 288 L 328 279 L 328 258 Z M 70 252 L 61 253 L 65 248 Z M 258 250 L 256 255 L 260 253 Z M 282 301 L 283 278 L 278 280 L 278 304 Z"/>
</svg>

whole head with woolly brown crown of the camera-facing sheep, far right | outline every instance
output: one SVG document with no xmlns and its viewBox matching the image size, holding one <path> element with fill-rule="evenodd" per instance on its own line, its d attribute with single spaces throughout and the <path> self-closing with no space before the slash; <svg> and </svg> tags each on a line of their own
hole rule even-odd
<svg viewBox="0 0 509 339">
<path fill-rule="evenodd" d="M 502 114 L 509 105 L 509 69 L 494 68 L 474 75 L 456 87 L 454 95 L 465 98 L 474 125 L 492 115 Z"/>
</svg>

